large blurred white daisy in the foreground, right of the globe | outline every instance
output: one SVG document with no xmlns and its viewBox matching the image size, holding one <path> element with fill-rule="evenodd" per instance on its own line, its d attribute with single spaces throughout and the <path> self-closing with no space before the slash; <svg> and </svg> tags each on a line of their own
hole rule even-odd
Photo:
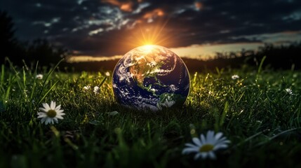
<svg viewBox="0 0 301 168">
<path fill-rule="evenodd" d="M 194 160 L 199 158 L 215 159 L 215 151 L 222 148 L 227 148 L 230 141 L 226 137 L 222 137 L 222 132 L 214 134 L 213 131 L 208 131 L 206 137 L 201 134 L 200 138 L 194 137 L 193 143 L 187 143 L 186 148 L 183 149 L 182 154 L 196 153 Z"/>
</svg>

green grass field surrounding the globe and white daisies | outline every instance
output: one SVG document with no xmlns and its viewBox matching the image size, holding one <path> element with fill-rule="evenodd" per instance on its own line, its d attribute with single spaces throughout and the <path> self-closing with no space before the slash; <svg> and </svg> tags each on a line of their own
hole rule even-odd
<svg viewBox="0 0 301 168">
<path fill-rule="evenodd" d="M 117 104 L 104 72 L 1 66 L 0 75 L 0 167 L 301 167 L 300 71 L 194 73 L 185 105 L 156 113 Z M 43 125 L 37 112 L 51 100 L 66 116 Z M 217 160 L 181 154 L 207 130 L 232 141 Z"/>
</svg>

